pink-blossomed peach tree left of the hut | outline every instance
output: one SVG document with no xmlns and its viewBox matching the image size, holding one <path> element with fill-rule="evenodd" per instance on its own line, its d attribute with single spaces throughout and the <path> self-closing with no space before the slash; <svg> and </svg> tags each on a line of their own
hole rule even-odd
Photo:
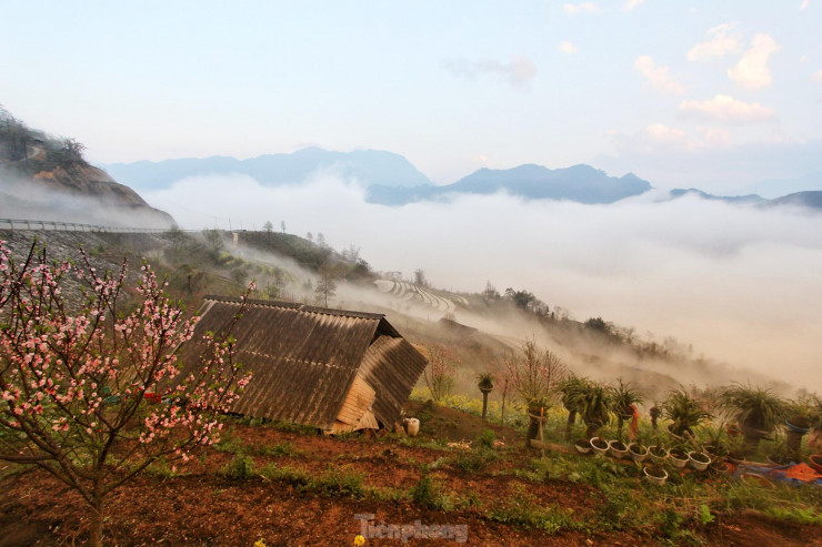
<svg viewBox="0 0 822 547">
<path fill-rule="evenodd" d="M 147 263 L 132 287 L 127 261 L 98 274 L 80 254 L 52 263 L 34 244 L 16 261 L 0 241 L 0 459 L 77 490 L 97 546 L 106 496 L 158 458 L 186 460 L 219 440 L 218 416 L 250 376 L 233 358 L 240 314 L 219 337 L 204 335 L 183 374 L 191 363 L 178 354 L 198 317 L 184 317 Z"/>
</svg>

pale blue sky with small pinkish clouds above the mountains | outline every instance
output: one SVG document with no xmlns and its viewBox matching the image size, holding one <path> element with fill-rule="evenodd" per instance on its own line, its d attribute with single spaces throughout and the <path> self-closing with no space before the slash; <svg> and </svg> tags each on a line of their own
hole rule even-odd
<svg viewBox="0 0 822 547">
<path fill-rule="evenodd" d="M 0 0 L 0 104 L 93 163 L 389 150 L 435 183 L 589 163 L 822 173 L 822 0 Z"/>
</svg>

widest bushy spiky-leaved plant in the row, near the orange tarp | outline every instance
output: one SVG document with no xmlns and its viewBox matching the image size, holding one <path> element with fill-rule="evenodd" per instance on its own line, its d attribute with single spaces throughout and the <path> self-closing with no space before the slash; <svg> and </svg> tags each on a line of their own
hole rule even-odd
<svg viewBox="0 0 822 547">
<path fill-rule="evenodd" d="M 786 417 L 785 402 L 770 389 L 736 384 L 722 389 L 721 406 L 736 415 L 746 453 L 773 433 Z"/>
</svg>

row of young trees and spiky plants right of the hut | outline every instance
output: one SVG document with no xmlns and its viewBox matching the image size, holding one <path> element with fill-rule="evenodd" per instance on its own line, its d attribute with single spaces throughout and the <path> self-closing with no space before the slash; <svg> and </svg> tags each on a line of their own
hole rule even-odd
<svg viewBox="0 0 822 547">
<path fill-rule="evenodd" d="M 454 385 L 453 376 L 459 361 L 442 346 L 429 348 L 429 367 L 423 375 L 432 399 L 442 402 Z M 616 423 L 622 437 L 625 421 L 639 419 L 639 406 L 645 396 L 632 383 L 616 378 L 604 384 L 580 377 L 552 351 L 540 348 L 533 340 L 527 341 L 521 352 L 502 359 L 498 373 L 480 374 L 478 387 L 483 394 L 483 418 L 488 394 L 499 383 L 503 386 L 503 405 L 509 392 L 528 408 L 531 416 L 528 438 L 534 438 L 538 416 L 553 406 L 561 405 L 568 412 L 567 436 L 571 436 L 577 419 L 585 426 L 585 437 L 592 438 L 612 422 Z M 744 438 L 742 450 L 755 452 L 759 440 L 766 438 L 783 426 L 786 430 L 788 448 L 795 454 L 802 435 L 813 428 L 822 428 L 822 399 L 815 394 L 802 394 L 795 399 L 780 397 L 771 389 L 759 386 L 733 384 L 711 389 L 673 388 L 662 402 L 654 402 L 649 409 L 653 430 L 656 421 L 670 421 L 668 432 L 675 438 L 693 438 L 694 429 L 712 418 L 729 424 L 734 433 Z M 504 418 L 503 418 L 504 419 Z M 630 432 L 629 436 L 636 432 Z"/>
</svg>

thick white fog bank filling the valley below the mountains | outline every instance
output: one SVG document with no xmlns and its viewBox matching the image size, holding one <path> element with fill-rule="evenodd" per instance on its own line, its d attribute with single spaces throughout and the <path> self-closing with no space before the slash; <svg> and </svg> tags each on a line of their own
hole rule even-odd
<svg viewBox="0 0 822 547">
<path fill-rule="evenodd" d="M 289 233 L 362 247 L 375 270 L 411 277 L 423 269 L 433 286 L 455 292 L 487 281 L 527 288 L 575 318 L 675 336 L 696 355 L 822 388 L 819 214 L 653 196 L 582 205 L 497 194 L 388 207 L 322 175 L 279 188 L 193 178 L 144 197 L 187 229 L 282 221 Z"/>
</svg>

